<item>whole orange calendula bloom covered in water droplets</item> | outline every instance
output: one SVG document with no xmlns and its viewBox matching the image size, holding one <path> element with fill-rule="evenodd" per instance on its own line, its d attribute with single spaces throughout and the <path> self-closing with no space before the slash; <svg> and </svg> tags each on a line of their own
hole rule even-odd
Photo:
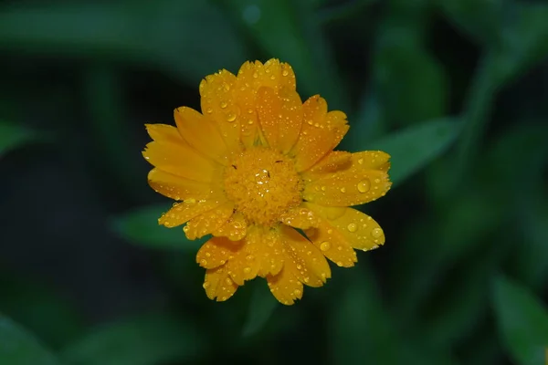
<svg viewBox="0 0 548 365">
<path fill-rule="evenodd" d="M 176 128 L 149 124 L 143 155 L 153 189 L 177 201 L 159 219 L 184 225 L 191 240 L 212 237 L 197 253 L 207 297 L 227 300 L 256 276 L 290 305 L 303 285 L 321 287 L 354 249 L 385 243 L 379 224 L 351 205 L 390 188 L 383 151 L 333 151 L 348 130 L 342 111 L 316 95 L 301 102 L 287 63 L 246 62 L 200 84 L 202 112 L 174 110 Z"/>
</svg>

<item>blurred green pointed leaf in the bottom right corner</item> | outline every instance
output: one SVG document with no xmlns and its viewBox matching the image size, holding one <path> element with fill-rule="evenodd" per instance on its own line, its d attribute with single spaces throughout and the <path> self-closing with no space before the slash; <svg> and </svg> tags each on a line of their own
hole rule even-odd
<svg viewBox="0 0 548 365">
<path fill-rule="evenodd" d="M 499 276 L 493 306 L 511 358 L 520 365 L 543 364 L 548 349 L 548 311 L 542 302 L 526 287 Z"/>
</svg>

